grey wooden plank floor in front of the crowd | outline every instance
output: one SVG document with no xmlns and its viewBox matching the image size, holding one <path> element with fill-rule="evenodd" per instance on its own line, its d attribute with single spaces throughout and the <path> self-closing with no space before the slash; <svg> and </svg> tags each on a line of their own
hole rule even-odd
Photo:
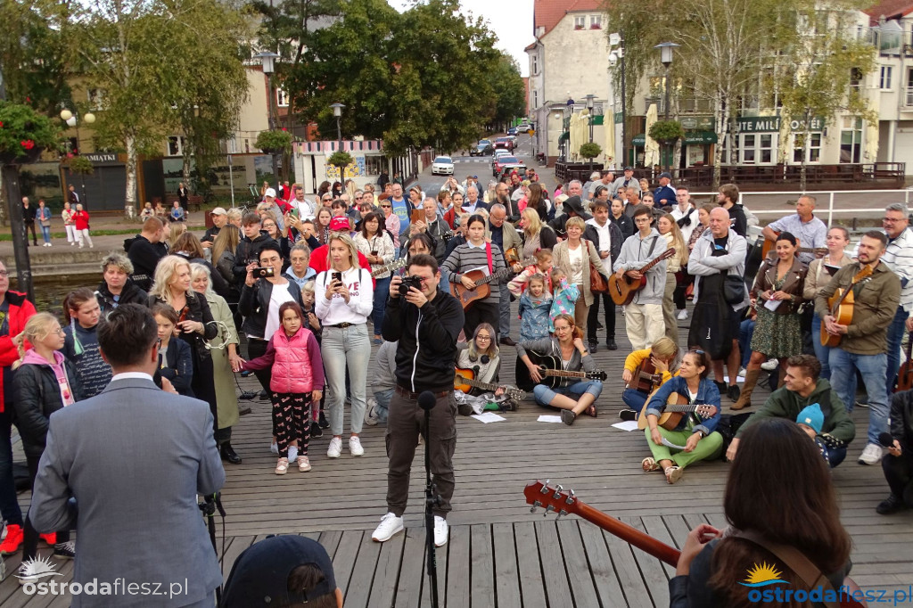
<svg viewBox="0 0 913 608">
<path fill-rule="evenodd" d="M 687 322 L 679 321 L 683 346 Z M 556 523 L 551 516 L 543 518 L 541 511 L 530 514 L 522 491 L 537 478 L 572 487 L 593 507 L 676 546 L 701 521 L 725 525 L 722 494 L 727 464 L 699 463 L 687 469 L 682 481 L 669 486 L 661 475 L 640 469 L 641 459 L 649 455 L 644 435 L 611 426 L 622 408 L 621 371 L 629 347 L 621 315 L 617 327 L 619 350 L 601 347 L 595 354 L 609 374 L 598 401 L 598 418 L 583 417 L 570 427 L 539 423 L 537 417 L 548 412 L 531 401 L 516 413 L 504 414 L 508 420 L 502 423 L 483 425 L 458 417 L 456 492 L 448 517 L 451 537 L 446 547 L 437 550 L 442 606 L 668 604 L 666 581 L 673 574 L 671 568 L 581 519 Z M 517 331 L 514 327 L 514 335 Z M 501 377 L 510 381 L 515 352 L 501 348 Z M 247 390 L 256 386 L 252 378 L 240 383 Z M 755 403 L 761 404 L 767 392 L 759 389 L 755 395 Z M 349 456 L 343 448 L 341 458 L 328 459 L 329 437 L 324 435 L 310 445 L 313 470 L 299 474 L 292 467 L 288 475 L 278 477 L 273 473 L 276 457 L 268 451 L 269 404 L 249 403 L 253 413 L 241 418 L 232 440 L 244 463 L 226 467 L 222 492 L 227 511 L 225 575 L 237 555 L 255 540 L 267 534 L 304 534 L 320 540 L 330 552 L 347 607 L 430 605 L 421 449 L 415 456 L 407 529 L 378 545 L 370 535 L 386 510 L 383 426 L 364 427 L 365 455 L 360 458 Z M 724 398 L 724 405 L 728 404 Z M 857 437 L 865 437 L 867 415 L 862 408 L 853 414 Z M 875 513 L 878 501 L 887 496 L 887 484 L 880 467 L 855 464 L 862 447 L 863 440 L 857 438 L 846 462 L 834 469 L 842 517 L 854 540 L 855 581 L 864 589 L 906 590 L 913 582 L 913 514 Z M 26 507 L 27 494 L 20 501 Z M 7 571 L 14 571 L 17 563 L 16 556 L 7 558 Z M 69 575 L 71 564 L 63 570 Z M 15 578 L 7 576 L 0 583 L 0 605 L 68 605 L 68 598 L 28 598 Z"/>
</svg>

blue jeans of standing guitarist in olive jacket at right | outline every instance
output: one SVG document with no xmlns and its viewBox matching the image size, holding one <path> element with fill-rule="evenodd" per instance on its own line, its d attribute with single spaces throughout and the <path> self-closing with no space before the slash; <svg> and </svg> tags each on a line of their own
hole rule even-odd
<svg viewBox="0 0 913 608">
<path fill-rule="evenodd" d="M 880 445 L 878 435 L 887 432 L 887 390 L 881 383 L 885 379 L 887 355 L 858 355 L 841 348 L 831 349 L 831 386 L 846 405 L 846 411 L 853 411 L 855 399 L 855 372 L 859 370 L 866 383 L 868 393 L 868 443 Z"/>
</svg>

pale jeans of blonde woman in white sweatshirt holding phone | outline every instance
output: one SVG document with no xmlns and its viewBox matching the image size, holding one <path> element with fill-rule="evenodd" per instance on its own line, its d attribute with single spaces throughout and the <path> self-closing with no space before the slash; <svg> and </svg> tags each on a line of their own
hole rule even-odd
<svg viewBox="0 0 913 608">
<path fill-rule="evenodd" d="M 327 419 L 333 435 L 342 435 L 345 407 L 345 378 L 349 372 L 352 388 L 352 433 L 361 433 L 368 383 L 368 364 L 371 362 L 371 341 L 368 324 L 359 323 L 345 329 L 324 327 L 320 343 L 323 370 L 327 384 Z"/>
</svg>

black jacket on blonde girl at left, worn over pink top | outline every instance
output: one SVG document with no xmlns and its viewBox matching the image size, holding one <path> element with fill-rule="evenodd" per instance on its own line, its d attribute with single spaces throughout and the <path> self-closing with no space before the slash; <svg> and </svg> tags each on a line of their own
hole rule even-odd
<svg viewBox="0 0 913 608">
<path fill-rule="evenodd" d="M 76 366 L 64 361 L 64 368 L 74 401 L 81 401 L 82 385 L 76 375 Z M 27 457 L 40 458 L 45 451 L 48 419 L 63 409 L 57 376 L 50 365 L 26 363 L 13 373 L 13 391 L 16 395 L 14 422 L 22 437 L 22 449 Z"/>
</svg>

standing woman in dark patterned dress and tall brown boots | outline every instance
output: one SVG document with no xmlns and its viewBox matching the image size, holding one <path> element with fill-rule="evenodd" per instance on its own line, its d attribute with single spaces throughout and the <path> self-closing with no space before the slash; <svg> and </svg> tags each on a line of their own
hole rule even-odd
<svg viewBox="0 0 913 608">
<path fill-rule="evenodd" d="M 808 267 L 795 257 L 797 246 L 795 236 L 788 232 L 780 233 L 774 245 L 775 257 L 765 259 L 754 278 L 750 298 L 751 306 L 758 311 L 758 320 L 751 336 L 752 352 L 745 368 L 745 384 L 738 401 L 732 404 L 733 410 L 750 406 L 751 393 L 761 374 L 761 363 L 779 359 L 784 370 L 782 365 L 787 359 L 802 354 L 799 305 L 803 301 Z"/>
</svg>

